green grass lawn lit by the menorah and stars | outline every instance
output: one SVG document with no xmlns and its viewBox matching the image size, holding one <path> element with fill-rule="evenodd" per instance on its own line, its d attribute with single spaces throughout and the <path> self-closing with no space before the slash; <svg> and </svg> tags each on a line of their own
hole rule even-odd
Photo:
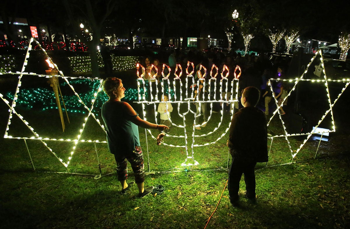
<svg viewBox="0 0 350 229">
<path fill-rule="evenodd" d="M 1 130 L 6 126 L 7 110 L 0 102 Z M 57 116 L 56 111 L 52 115 L 50 112 L 23 112 L 20 113 L 29 115 L 32 122 L 36 120 L 33 127 L 42 131 L 41 134 L 63 134 L 59 128 L 46 125 L 52 123 L 59 127 L 58 118 L 52 118 Z M 51 116 L 45 117 L 48 114 Z M 181 123 L 175 112 L 172 117 Z M 67 125 L 64 138 L 74 139 L 83 118 L 80 114 L 71 115 L 72 124 Z M 213 129 L 218 119 L 219 113 L 213 114 L 212 122 L 196 133 Z M 222 133 L 228 122 L 226 117 L 219 132 Z M 25 129 L 16 129 L 20 125 L 18 120 L 11 125 L 14 136 L 27 134 Z M 96 123 L 88 121 L 86 125 L 84 138 L 105 138 Z M 189 131 L 192 127 L 190 119 L 186 125 Z M 279 133 L 278 119 L 269 129 Z M 170 134 L 182 132 L 181 128 L 173 127 Z M 155 130 L 152 133 L 157 134 Z M 198 137 L 198 141 L 212 141 L 219 135 Z M 346 131 L 336 132 L 331 141 L 321 142 L 316 160 L 313 157 L 318 142 L 309 141 L 293 160 L 298 163 L 280 166 L 278 164 L 292 161 L 291 153 L 285 139 L 275 138 L 268 162 L 268 166 L 273 167 L 266 167 L 265 163 L 258 163 L 256 167 L 258 205 L 251 205 L 241 198 L 242 208 L 230 207 L 226 187 L 207 228 L 349 228 L 350 163 L 349 151 L 344 145 L 348 136 Z M 215 144 L 195 148 L 194 157 L 200 165 L 190 167 L 180 166 L 186 158 L 183 148 L 156 146 L 155 141 L 149 135 L 147 137 L 149 161 L 145 132 L 140 129 L 146 171 L 148 164 L 151 171 L 147 173 L 145 185 L 162 185 L 165 191 L 144 199 L 135 197 L 136 186 L 131 187 L 129 195 L 120 194 L 116 163 L 106 144 L 96 144 L 97 160 L 93 143 L 79 143 L 68 167 L 71 173 L 96 175 L 100 164 L 103 176 L 96 180 L 90 175 L 62 174 L 67 172 L 66 168 L 40 141 L 27 140 L 36 168 L 34 172 L 24 140 L 1 138 L 0 228 L 204 228 L 228 178 L 228 172 L 224 170 L 228 160 L 228 136 Z M 184 144 L 183 139 L 170 137 L 166 137 L 165 142 Z M 290 138 L 290 143 L 293 150 L 301 144 L 295 138 Z M 69 142 L 57 141 L 47 141 L 47 144 L 63 159 L 68 158 L 73 146 Z M 186 172 L 185 168 L 189 171 Z M 221 170 L 215 170 L 219 168 Z M 130 180 L 133 180 L 132 173 Z M 240 194 L 243 195 L 244 191 L 242 179 Z"/>
</svg>

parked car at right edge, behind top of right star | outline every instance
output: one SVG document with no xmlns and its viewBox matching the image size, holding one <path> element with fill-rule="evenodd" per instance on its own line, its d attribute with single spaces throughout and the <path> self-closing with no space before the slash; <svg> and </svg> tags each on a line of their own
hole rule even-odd
<svg viewBox="0 0 350 229">
<path fill-rule="evenodd" d="M 323 59 L 324 70 L 328 79 L 349 79 L 350 78 L 350 62 L 335 59 Z M 314 75 L 318 77 L 324 76 L 322 62 L 315 65 Z"/>
</svg>

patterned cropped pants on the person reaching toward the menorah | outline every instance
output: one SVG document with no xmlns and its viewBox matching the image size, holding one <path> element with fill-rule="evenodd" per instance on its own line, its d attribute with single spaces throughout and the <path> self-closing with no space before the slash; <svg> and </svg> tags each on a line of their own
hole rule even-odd
<svg viewBox="0 0 350 229">
<path fill-rule="evenodd" d="M 140 146 L 135 146 L 135 149 L 126 155 L 116 155 L 114 157 L 117 162 L 118 181 L 124 181 L 128 178 L 127 162 L 131 164 L 131 168 L 135 174 L 135 183 L 145 181 L 144 158 Z"/>
</svg>

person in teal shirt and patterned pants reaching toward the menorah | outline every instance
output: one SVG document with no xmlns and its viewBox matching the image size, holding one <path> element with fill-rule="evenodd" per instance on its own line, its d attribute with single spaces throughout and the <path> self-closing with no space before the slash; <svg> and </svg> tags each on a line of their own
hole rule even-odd
<svg viewBox="0 0 350 229">
<path fill-rule="evenodd" d="M 125 88 L 120 79 L 116 77 L 107 78 L 103 81 L 103 90 L 109 96 L 109 100 L 102 105 L 102 119 L 106 127 L 108 148 L 114 154 L 117 162 L 117 175 L 122 188 L 121 193 L 126 194 L 130 186 L 136 182 L 139 189 L 138 197 L 143 198 L 151 193 L 154 187 L 144 188 L 144 159 L 138 126 L 160 131 L 167 130 L 168 127 L 142 120 L 129 103 L 122 102 L 121 99 L 125 96 Z M 158 136 L 158 138 L 161 137 Z M 128 178 L 127 161 L 131 164 L 135 182 L 126 182 Z"/>
</svg>

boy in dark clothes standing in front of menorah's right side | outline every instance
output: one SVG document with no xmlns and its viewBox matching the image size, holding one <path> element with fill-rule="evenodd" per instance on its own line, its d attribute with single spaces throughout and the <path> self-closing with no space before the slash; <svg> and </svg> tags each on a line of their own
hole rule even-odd
<svg viewBox="0 0 350 229">
<path fill-rule="evenodd" d="M 267 162 L 267 126 L 266 115 L 256 108 L 260 91 L 256 87 L 244 89 L 240 109 L 232 117 L 230 137 L 227 146 L 232 155 L 229 170 L 229 196 L 233 207 L 239 206 L 239 181 L 244 174 L 246 184 L 245 197 L 256 203 L 255 173 L 257 162 Z"/>
</svg>

